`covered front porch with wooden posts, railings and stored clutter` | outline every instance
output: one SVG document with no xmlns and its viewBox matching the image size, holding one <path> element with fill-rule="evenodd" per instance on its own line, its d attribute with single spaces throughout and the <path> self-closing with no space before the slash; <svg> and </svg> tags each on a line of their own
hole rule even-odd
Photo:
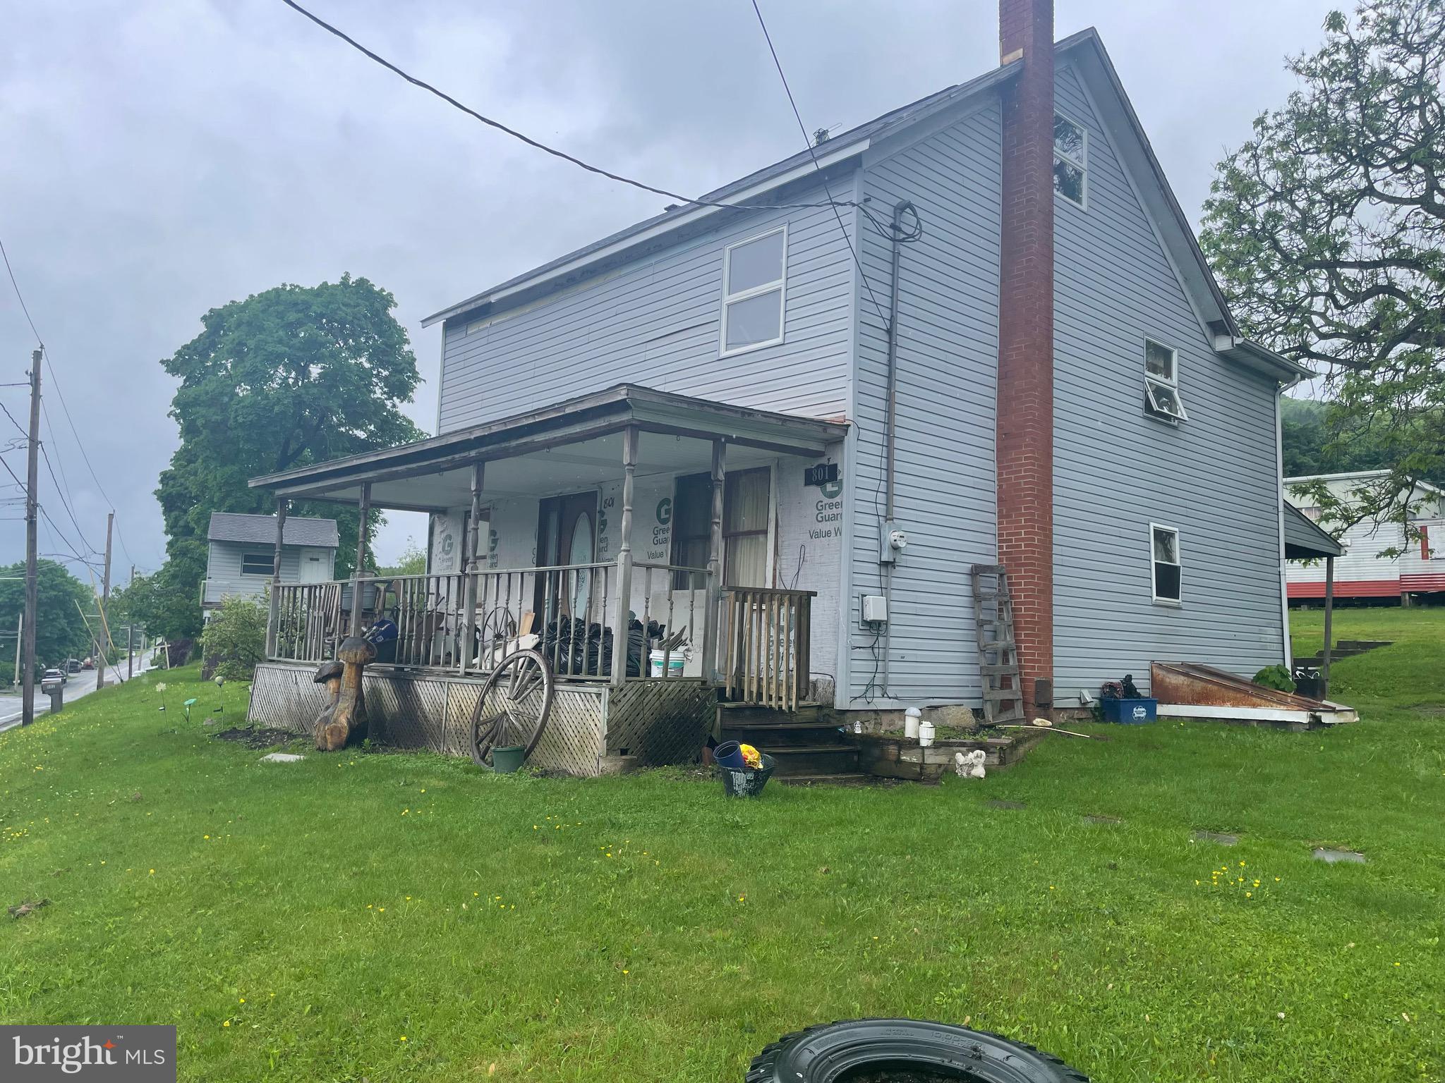
<svg viewBox="0 0 1445 1083">
<path fill-rule="evenodd" d="M 431 516 L 422 575 L 363 573 L 364 529 L 348 580 L 282 583 L 277 565 L 267 660 L 299 671 L 386 617 L 394 647 L 368 666 L 368 682 L 480 684 L 506 654 L 533 647 L 559 689 L 598 708 L 633 702 L 647 713 L 650 702 L 668 713 L 663 700 L 692 696 L 708 700 L 711 723 L 721 687 L 728 699 L 793 709 L 809 695 L 815 592 L 764 579 L 776 494 L 759 482 L 779 462 L 801 471 L 844 432 L 618 386 L 256 478 L 276 492 L 277 539 L 296 498 L 354 504 L 363 524 L 387 508 Z M 598 751 L 633 744 L 603 741 Z"/>
</svg>

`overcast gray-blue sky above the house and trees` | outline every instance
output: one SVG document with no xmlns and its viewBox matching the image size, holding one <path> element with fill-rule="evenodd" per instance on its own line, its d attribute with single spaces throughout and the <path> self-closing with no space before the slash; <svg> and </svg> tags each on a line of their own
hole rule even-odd
<svg viewBox="0 0 1445 1083">
<path fill-rule="evenodd" d="M 308 6 L 480 111 L 660 188 L 702 192 L 799 149 L 749 0 Z M 997 64 L 994 0 L 762 6 L 809 130 Z M 1312 48 L 1335 6 L 1058 0 L 1056 29 L 1100 29 L 1196 218 L 1212 163 L 1292 90 L 1283 56 Z M 163 559 L 152 494 L 176 430 L 158 361 L 207 309 L 370 277 L 397 299 L 425 380 L 409 412 L 432 432 L 441 329 L 422 331 L 425 315 L 663 202 L 483 127 L 280 0 L 0 0 L 0 240 L 98 484 L 53 384 L 48 448 L 84 544 L 104 544 L 114 501 L 117 576 Z M 0 383 L 25 380 L 33 345 L 0 279 Z M 25 387 L 0 401 L 25 420 Z M 25 477 L 23 449 L 4 461 Z M 40 500 L 81 546 L 43 468 Z M 20 516 L 0 503 L 3 562 L 23 557 Z M 379 556 L 407 536 L 425 523 L 393 514 Z M 42 527 L 40 552 L 65 543 Z"/>
</svg>

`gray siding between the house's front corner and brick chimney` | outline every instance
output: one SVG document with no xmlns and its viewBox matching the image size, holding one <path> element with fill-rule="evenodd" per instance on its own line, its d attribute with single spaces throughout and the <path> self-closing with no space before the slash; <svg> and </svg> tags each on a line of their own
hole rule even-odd
<svg viewBox="0 0 1445 1083">
<path fill-rule="evenodd" d="M 870 209 L 887 219 L 899 199 L 910 199 L 923 238 L 903 247 L 899 276 L 894 520 L 909 544 L 892 579 L 887 697 L 867 687 L 874 637 L 863 630 L 858 612 L 860 595 L 881 591 L 887 339 L 874 297 L 858 290 L 850 666 L 842 706 L 978 700 L 970 565 L 993 563 L 996 552 L 1000 170 L 994 101 L 863 175 Z M 860 232 L 864 269 L 886 313 L 890 245 L 866 222 Z"/>
</svg>

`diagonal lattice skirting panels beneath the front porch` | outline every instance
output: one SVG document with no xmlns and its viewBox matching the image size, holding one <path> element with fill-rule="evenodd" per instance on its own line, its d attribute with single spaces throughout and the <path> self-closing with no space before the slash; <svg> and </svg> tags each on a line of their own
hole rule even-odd
<svg viewBox="0 0 1445 1083">
<path fill-rule="evenodd" d="M 257 666 L 247 719 L 311 736 L 327 703 L 314 673 L 309 664 Z M 478 677 L 367 673 L 367 715 L 381 721 L 389 745 L 468 755 L 467 731 L 481 684 Z M 714 699 L 712 689 L 688 679 L 629 682 L 620 689 L 558 683 L 552 716 L 527 764 L 595 775 L 604 747 L 607 755 L 634 755 L 649 767 L 692 762 L 712 725 Z"/>
</svg>

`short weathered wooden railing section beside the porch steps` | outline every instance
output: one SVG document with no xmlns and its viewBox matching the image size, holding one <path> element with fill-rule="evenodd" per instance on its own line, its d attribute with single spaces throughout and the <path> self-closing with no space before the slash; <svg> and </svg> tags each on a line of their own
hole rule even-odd
<svg viewBox="0 0 1445 1083">
<path fill-rule="evenodd" d="M 724 588 L 727 695 L 795 710 L 808 697 L 812 599 L 816 591 Z"/>
</svg>

